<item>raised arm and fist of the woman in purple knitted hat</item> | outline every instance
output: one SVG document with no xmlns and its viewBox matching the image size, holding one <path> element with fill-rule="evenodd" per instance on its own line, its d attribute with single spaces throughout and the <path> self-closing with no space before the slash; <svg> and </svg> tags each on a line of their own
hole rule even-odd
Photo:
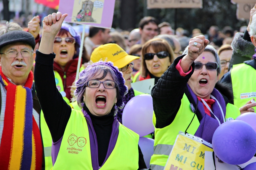
<svg viewBox="0 0 256 170">
<path fill-rule="evenodd" d="M 53 142 L 57 142 L 63 136 L 71 113 L 71 108 L 56 88 L 53 72 L 53 58 L 55 58 L 53 41 L 66 16 L 67 14 L 61 15 L 57 12 L 44 18 L 42 41 L 39 50 L 36 51 L 34 71 L 36 95 Z"/>
</svg>

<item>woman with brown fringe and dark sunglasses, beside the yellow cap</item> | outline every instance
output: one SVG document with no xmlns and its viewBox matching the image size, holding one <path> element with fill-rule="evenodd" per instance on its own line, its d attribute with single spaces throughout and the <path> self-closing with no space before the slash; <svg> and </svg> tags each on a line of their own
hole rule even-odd
<svg viewBox="0 0 256 170">
<path fill-rule="evenodd" d="M 155 84 L 175 59 L 175 54 L 167 41 L 154 38 L 142 47 L 141 71 L 134 76 L 133 82 L 155 78 Z"/>
</svg>

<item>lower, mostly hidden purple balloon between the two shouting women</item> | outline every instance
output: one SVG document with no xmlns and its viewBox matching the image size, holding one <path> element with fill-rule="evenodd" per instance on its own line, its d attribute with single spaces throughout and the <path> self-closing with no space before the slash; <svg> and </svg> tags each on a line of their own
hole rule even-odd
<svg viewBox="0 0 256 170">
<path fill-rule="evenodd" d="M 141 152 L 143 153 L 146 166 L 147 168 L 149 168 L 150 159 L 154 153 L 154 139 L 150 139 L 147 137 L 140 137 L 139 146 L 140 146 Z"/>
</svg>

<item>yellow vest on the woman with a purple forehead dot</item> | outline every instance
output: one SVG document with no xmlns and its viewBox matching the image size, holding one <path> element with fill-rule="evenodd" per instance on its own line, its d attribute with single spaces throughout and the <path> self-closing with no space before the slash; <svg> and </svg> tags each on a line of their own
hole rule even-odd
<svg viewBox="0 0 256 170">
<path fill-rule="evenodd" d="M 233 118 L 235 119 L 240 115 L 239 109 L 228 103 L 226 106 L 226 119 Z M 183 98 L 181 99 L 180 109 L 175 116 L 173 122 L 164 127 L 156 128 L 155 127 L 155 141 L 154 141 L 154 154 L 150 159 L 150 169 L 152 170 L 163 170 L 167 162 L 167 159 L 171 153 L 172 146 L 175 142 L 179 131 L 185 132 L 189 123 L 193 119 L 194 113 L 190 108 L 190 102 L 184 93 Z M 153 115 L 153 124 L 156 125 L 156 117 Z M 192 123 L 190 124 L 187 132 L 191 135 L 195 135 L 197 128 L 200 123 L 195 116 Z"/>
</svg>

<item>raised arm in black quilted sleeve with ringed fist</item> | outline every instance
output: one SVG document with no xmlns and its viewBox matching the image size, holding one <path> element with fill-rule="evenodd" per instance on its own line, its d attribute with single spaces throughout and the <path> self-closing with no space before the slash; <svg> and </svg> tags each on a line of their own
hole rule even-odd
<svg viewBox="0 0 256 170">
<path fill-rule="evenodd" d="M 188 54 L 176 58 L 153 87 L 151 96 L 156 115 L 156 128 L 164 128 L 174 120 L 188 80 L 194 72 L 193 63 L 208 44 L 209 41 L 204 36 L 190 39 Z"/>
</svg>

